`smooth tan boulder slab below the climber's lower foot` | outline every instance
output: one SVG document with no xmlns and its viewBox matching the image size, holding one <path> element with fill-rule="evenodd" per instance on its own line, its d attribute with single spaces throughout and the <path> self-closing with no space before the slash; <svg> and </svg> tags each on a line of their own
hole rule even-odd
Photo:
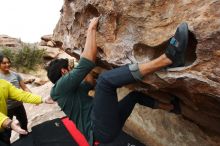
<svg viewBox="0 0 220 146">
<path fill-rule="evenodd" d="M 124 129 L 149 146 L 212 145 L 209 137 L 195 124 L 174 114 L 140 105 L 135 107 Z"/>
</svg>

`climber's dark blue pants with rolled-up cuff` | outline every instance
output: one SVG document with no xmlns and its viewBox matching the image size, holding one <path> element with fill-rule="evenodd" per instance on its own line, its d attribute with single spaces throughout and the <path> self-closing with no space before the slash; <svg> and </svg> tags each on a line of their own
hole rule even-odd
<svg viewBox="0 0 220 146">
<path fill-rule="evenodd" d="M 116 89 L 134 83 L 129 67 L 123 66 L 102 73 L 97 81 L 92 110 L 94 137 L 101 143 L 109 143 L 121 132 L 134 105 L 139 103 L 153 108 L 155 100 L 133 91 L 118 102 Z"/>
</svg>

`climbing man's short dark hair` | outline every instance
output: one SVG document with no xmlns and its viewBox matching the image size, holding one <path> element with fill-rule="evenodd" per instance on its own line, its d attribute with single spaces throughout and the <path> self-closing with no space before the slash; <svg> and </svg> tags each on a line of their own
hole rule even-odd
<svg viewBox="0 0 220 146">
<path fill-rule="evenodd" d="M 50 62 L 46 70 L 47 77 L 52 83 L 55 84 L 60 79 L 62 68 L 68 69 L 68 59 L 55 59 Z"/>
</svg>

